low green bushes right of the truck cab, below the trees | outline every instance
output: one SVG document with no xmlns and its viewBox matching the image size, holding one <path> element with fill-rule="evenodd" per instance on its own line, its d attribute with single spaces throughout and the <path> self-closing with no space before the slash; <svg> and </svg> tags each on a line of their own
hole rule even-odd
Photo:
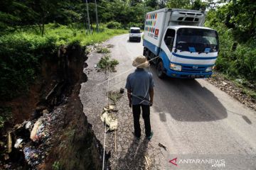
<svg viewBox="0 0 256 170">
<path fill-rule="evenodd" d="M 233 30 L 223 23 L 206 23 L 206 26 L 218 31 L 220 52 L 216 61 L 216 69 L 233 79 L 247 79 L 256 83 L 256 40 L 239 42 L 236 50 L 232 50 L 237 40 Z"/>
</svg>

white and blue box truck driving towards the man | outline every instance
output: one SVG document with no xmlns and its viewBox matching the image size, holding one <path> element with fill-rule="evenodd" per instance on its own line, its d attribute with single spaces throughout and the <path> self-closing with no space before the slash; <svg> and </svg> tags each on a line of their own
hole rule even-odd
<svg viewBox="0 0 256 170">
<path fill-rule="evenodd" d="M 144 56 L 159 78 L 210 77 L 218 57 L 216 30 L 203 27 L 206 11 L 162 8 L 146 13 Z"/>
</svg>

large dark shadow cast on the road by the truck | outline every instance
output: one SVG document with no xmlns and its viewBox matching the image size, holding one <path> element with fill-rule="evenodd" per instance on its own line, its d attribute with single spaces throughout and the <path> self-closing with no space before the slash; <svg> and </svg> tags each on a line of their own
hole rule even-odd
<svg viewBox="0 0 256 170">
<path fill-rule="evenodd" d="M 159 79 L 155 81 L 154 110 L 162 122 L 166 115 L 178 121 L 212 121 L 227 118 L 228 113 L 215 95 L 193 79 Z"/>
</svg>

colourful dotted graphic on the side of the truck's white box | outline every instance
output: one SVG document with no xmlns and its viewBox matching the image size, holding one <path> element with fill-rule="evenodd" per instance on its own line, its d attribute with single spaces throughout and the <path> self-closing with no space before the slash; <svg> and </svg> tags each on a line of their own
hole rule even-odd
<svg viewBox="0 0 256 170">
<path fill-rule="evenodd" d="M 159 29 L 156 29 L 157 13 L 149 13 L 146 15 L 145 32 L 150 38 L 158 39 Z M 157 30 L 157 31 L 156 31 Z"/>
</svg>

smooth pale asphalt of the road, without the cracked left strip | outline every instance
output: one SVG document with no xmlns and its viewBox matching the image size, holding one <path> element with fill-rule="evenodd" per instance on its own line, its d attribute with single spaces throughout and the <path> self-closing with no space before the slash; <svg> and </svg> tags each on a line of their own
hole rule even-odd
<svg viewBox="0 0 256 170">
<path fill-rule="evenodd" d="M 114 45 L 111 55 L 119 61 L 110 87 L 124 87 L 127 75 L 134 71 L 133 58 L 142 55 L 142 42 L 129 42 L 126 34 L 107 43 Z M 204 79 L 162 80 L 154 66 L 149 71 L 155 82 L 152 140 L 167 147 L 163 167 L 174 168 L 169 160 L 177 157 L 179 169 L 210 169 L 209 164 L 185 164 L 181 159 L 224 160 L 225 166 L 210 163 L 211 169 L 256 169 L 255 111 Z"/>
</svg>

